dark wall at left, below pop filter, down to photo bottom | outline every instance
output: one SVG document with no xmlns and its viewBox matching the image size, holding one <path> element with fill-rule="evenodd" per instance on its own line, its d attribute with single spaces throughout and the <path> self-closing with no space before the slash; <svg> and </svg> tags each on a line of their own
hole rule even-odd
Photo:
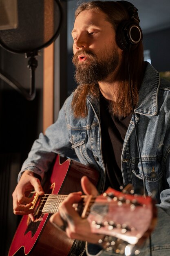
<svg viewBox="0 0 170 256">
<path fill-rule="evenodd" d="M 13 54 L 0 47 L 0 70 L 29 91 L 30 73 L 24 54 Z M 20 221 L 13 214 L 12 192 L 24 159 L 33 141 L 42 131 L 43 56 L 35 71 L 36 97 L 27 101 L 0 79 L 0 254 L 7 256 L 15 229 Z"/>
</svg>

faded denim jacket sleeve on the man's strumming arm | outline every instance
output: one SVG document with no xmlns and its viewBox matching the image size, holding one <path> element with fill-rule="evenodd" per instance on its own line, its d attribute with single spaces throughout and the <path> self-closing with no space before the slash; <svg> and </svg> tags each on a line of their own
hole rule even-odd
<svg viewBox="0 0 170 256">
<path fill-rule="evenodd" d="M 43 178 L 56 154 L 75 157 L 75 151 L 71 148 L 70 131 L 66 117 L 71 112 L 70 102 L 71 97 L 68 97 L 59 112 L 57 121 L 46 129 L 45 134 L 40 133 L 39 138 L 34 141 L 28 158 L 22 165 L 18 180 L 22 172 L 28 169 Z"/>
</svg>

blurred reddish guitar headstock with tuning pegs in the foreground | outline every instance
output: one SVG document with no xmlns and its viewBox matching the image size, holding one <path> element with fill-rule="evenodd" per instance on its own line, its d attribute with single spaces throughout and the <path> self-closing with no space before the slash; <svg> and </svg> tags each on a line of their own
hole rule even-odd
<svg viewBox="0 0 170 256">
<path fill-rule="evenodd" d="M 155 227 L 155 202 L 149 196 L 109 188 L 94 200 L 87 220 L 93 233 L 136 245 L 145 240 Z"/>
</svg>

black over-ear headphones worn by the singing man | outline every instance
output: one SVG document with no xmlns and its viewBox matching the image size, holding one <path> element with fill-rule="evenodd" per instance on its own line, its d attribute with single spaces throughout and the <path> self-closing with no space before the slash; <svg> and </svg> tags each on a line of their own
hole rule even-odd
<svg viewBox="0 0 170 256">
<path fill-rule="evenodd" d="M 116 31 L 116 43 L 119 48 L 124 51 L 129 49 L 134 50 L 143 38 L 142 30 L 139 26 L 140 20 L 137 12 L 138 9 L 130 2 L 117 2 L 126 7 L 130 19 L 124 20 L 118 25 Z"/>
</svg>

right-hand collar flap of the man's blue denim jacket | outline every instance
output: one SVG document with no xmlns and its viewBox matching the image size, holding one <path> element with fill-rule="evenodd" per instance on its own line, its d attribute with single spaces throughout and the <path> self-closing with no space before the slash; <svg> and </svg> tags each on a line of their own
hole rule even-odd
<svg viewBox="0 0 170 256">
<path fill-rule="evenodd" d="M 144 78 L 139 89 L 139 100 L 135 113 L 149 116 L 157 114 L 159 85 L 159 72 L 150 63 L 147 63 Z"/>
</svg>

